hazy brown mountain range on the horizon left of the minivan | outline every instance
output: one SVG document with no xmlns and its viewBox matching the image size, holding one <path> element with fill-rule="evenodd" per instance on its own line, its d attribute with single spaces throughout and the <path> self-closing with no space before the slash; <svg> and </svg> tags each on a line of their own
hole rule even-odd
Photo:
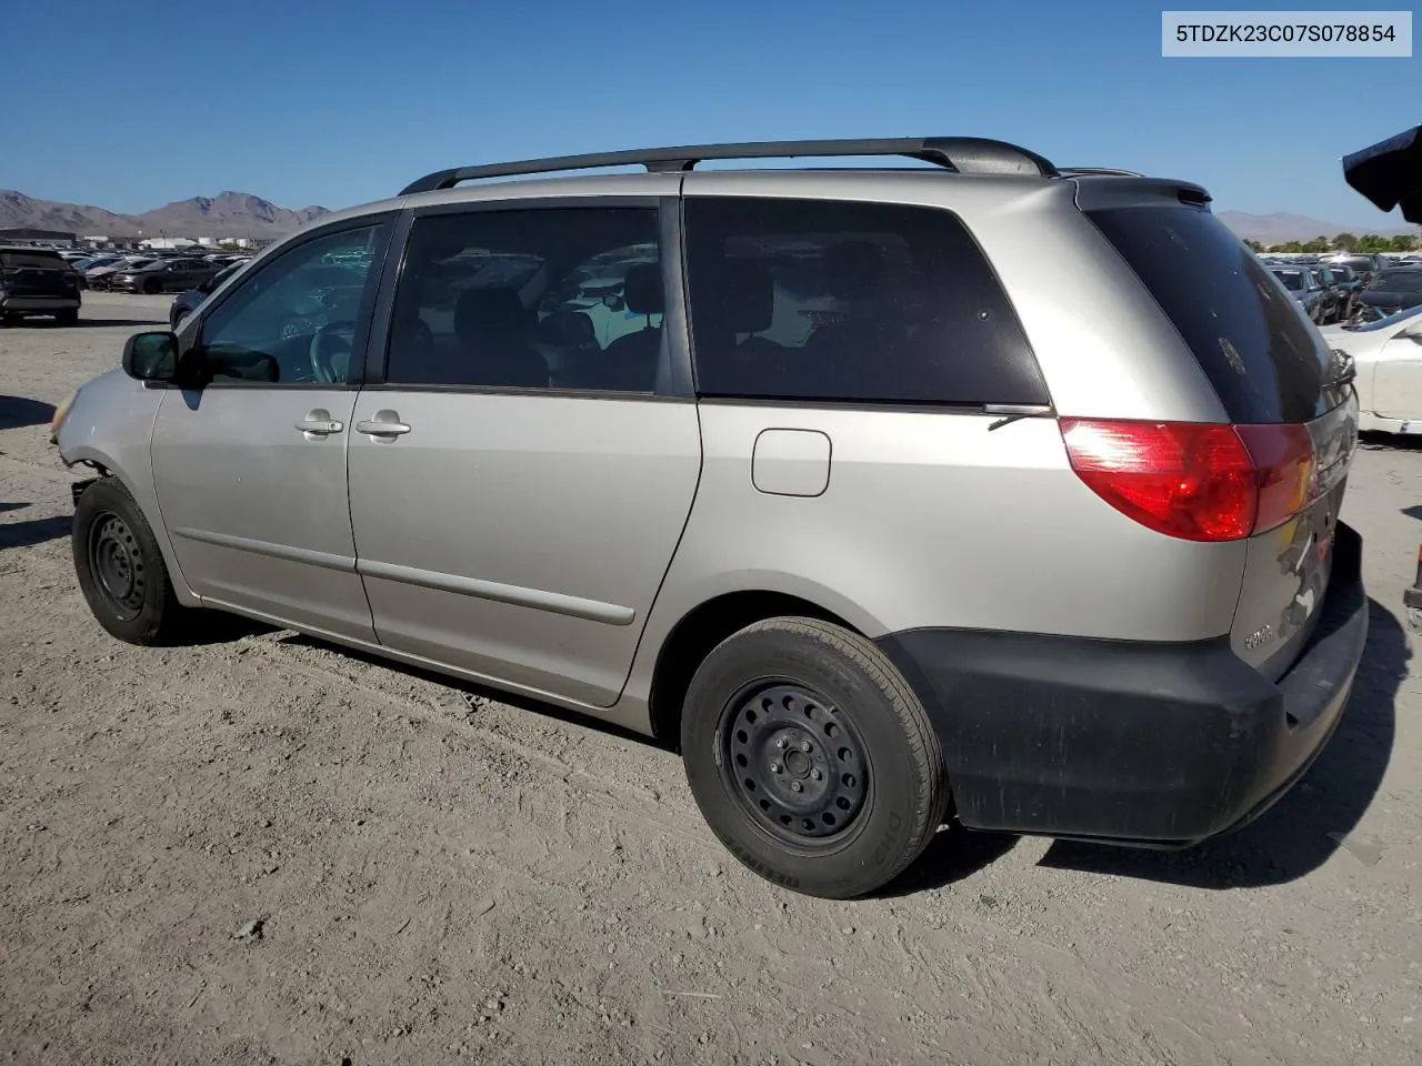
<svg viewBox="0 0 1422 1066">
<path fill-rule="evenodd" d="M 78 236 L 108 237 L 280 237 L 307 222 L 330 215 L 326 208 L 277 208 L 245 192 L 173 200 L 142 215 L 118 215 L 58 200 L 37 200 L 23 192 L 0 190 L 0 229 L 54 229 Z"/>
</svg>

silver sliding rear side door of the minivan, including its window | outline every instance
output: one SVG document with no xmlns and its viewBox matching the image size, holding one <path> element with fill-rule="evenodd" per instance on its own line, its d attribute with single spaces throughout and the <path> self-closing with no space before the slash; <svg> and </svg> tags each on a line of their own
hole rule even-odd
<svg viewBox="0 0 1422 1066">
<path fill-rule="evenodd" d="M 350 439 L 390 648 L 616 702 L 701 466 L 695 404 L 665 385 L 658 225 L 656 202 L 415 219 Z"/>
</svg>

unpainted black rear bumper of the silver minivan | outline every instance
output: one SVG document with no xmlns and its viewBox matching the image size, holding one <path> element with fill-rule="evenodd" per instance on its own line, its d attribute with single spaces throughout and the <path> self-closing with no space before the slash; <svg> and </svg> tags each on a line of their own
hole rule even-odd
<svg viewBox="0 0 1422 1066">
<path fill-rule="evenodd" d="M 1362 539 L 1337 529 L 1317 630 L 1274 684 L 1227 638 L 880 638 L 934 721 L 963 824 L 1180 846 L 1266 810 L 1332 735 L 1362 658 Z"/>
</svg>

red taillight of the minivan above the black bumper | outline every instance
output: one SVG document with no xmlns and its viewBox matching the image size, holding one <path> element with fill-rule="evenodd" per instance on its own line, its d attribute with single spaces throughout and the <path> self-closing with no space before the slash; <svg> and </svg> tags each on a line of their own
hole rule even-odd
<svg viewBox="0 0 1422 1066">
<path fill-rule="evenodd" d="M 1158 533 L 1239 540 L 1308 506 L 1314 448 L 1303 425 L 1061 419 L 1076 475 Z"/>
</svg>

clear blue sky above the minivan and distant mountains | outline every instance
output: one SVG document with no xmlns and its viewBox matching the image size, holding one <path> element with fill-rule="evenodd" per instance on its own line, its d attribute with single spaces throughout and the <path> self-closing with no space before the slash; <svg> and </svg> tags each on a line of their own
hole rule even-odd
<svg viewBox="0 0 1422 1066">
<path fill-rule="evenodd" d="M 1140 0 L 14 0 L 3 26 L 0 188 L 121 212 L 223 189 L 340 208 L 530 155 L 975 134 L 1384 227 L 1402 220 L 1338 158 L 1422 122 L 1422 58 L 1162 58 Z"/>
</svg>

